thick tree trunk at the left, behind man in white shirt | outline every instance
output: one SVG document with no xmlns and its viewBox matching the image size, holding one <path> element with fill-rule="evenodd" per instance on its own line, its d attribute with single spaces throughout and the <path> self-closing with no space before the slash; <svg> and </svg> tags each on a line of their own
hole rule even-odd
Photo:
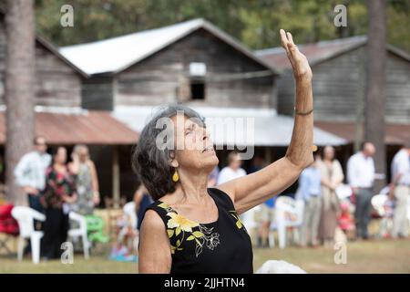
<svg viewBox="0 0 410 292">
<path fill-rule="evenodd" d="M 26 204 L 15 185 L 16 163 L 35 135 L 35 23 L 33 0 L 7 0 L 5 13 L 5 185 L 10 202 Z"/>
</svg>

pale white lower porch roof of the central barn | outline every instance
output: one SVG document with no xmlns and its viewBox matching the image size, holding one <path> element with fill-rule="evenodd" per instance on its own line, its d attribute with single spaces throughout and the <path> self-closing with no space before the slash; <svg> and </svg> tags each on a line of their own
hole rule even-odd
<svg viewBox="0 0 410 292">
<path fill-rule="evenodd" d="M 210 107 L 192 109 L 205 118 L 215 145 L 288 146 L 292 139 L 293 118 L 278 115 L 276 110 Z M 131 129 L 141 131 L 157 110 L 155 107 L 117 106 L 113 116 Z M 226 128 L 230 123 L 233 123 L 233 128 Z M 313 142 L 318 146 L 346 143 L 343 138 L 319 128 L 313 130 Z"/>
</svg>

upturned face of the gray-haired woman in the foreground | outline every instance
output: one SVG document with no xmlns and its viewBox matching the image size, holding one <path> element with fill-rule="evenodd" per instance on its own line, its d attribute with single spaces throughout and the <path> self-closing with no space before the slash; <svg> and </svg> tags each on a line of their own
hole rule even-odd
<svg viewBox="0 0 410 292">
<path fill-rule="evenodd" d="M 182 114 L 171 120 L 174 124 L 175 161 L 178 167 L 211 172 L 219 161 L 208 130 Z"/>
</svg>

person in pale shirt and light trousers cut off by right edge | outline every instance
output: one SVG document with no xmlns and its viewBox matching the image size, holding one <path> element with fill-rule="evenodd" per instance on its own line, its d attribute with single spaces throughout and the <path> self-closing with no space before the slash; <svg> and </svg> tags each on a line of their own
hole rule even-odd
<svg viewBox="0 0 410 292">
<path fill-rule="evenodd" d="M 390 198 L 395 200 L 392 237 L 407 237 L 407 201 L 410 200 L 410 142 L 395 153 L 393 158 Z"/>
</svg>

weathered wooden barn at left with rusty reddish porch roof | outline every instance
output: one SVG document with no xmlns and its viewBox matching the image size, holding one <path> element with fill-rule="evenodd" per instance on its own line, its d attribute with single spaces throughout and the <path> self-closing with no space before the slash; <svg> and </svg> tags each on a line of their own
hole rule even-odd
<svg viewBox="0 0 410 292">
<path fill-rule="evenodd" d="M 1 12 L 1 11 L 0 11 Z M 5 23 L 0 13 L 0 155 L 5 144 Z M 129 163 L 118 155 L 122 148 L 136 143 L 138 133 L 113 118 L 109 111 L 82 108 L 82 84 L 89 76 L 63 57 L 56 47 L 36 36 L 36 134 L 46 137 L 51 147 L 87 144 L 97 163 L 101 194 L 119 199 L 119 173 L 128 171 Z M 104 160 L 101 159 L 104 157 Z M 128 156 L 127 156 L 128 159 Z M 2 173 L 3 175 L 4 173 Z M 4 181 L 4 177 L 2 177 Z"/>
</svg>

